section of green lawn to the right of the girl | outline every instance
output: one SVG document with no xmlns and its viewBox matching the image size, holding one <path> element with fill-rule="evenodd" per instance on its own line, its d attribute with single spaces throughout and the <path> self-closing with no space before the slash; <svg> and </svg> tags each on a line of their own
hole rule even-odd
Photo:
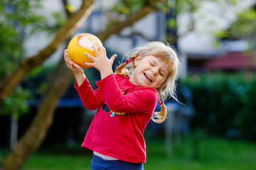
<svg viewBox="0 0 256 170">
<path fill-rule="evenodd" d="M 192 142 L 174 147 L 173 156 L 164 154 L 164 142 L 150 144 L 145 169 L 164 170 L 256 170 L 256 144 L 207 138 L 201 142 L 200 157 L 193 159 Z"/>
</svg>

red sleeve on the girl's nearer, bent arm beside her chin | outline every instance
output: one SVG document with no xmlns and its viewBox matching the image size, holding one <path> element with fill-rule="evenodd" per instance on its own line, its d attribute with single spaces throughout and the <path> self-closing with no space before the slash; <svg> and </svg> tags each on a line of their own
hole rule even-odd
<svg viewBox="0 0 256 170">
<path fill-rule="evenodd" d="M 141 87 L 137 91 L 122 94 L 114 74 L 96 82 L 110 110 L 119 113 L 152 113 L 158 101 L 156 89 Z"/>
</svg>

